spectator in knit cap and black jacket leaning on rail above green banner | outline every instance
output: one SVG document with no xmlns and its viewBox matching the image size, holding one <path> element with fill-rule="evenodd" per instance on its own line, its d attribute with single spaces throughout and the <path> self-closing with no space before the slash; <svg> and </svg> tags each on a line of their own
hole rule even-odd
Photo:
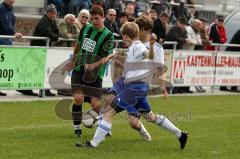
<svg viewBox="0 0 240 159">
<path fill-rule="evenodd" d="M 48 37 L 50 39 L 49 46 L 56 46 L 59 40 L 59 30 L 56 23 L 57 10 L 53 4 L 48 5 L 46 14 L 43 15 L 37 24 L 33 36 Z M 45 40 L 31 40 L 31 46 L 46 46 Z M 46 96 L 55 96 L 50 90 L 45 91 Z"/>
</svg>

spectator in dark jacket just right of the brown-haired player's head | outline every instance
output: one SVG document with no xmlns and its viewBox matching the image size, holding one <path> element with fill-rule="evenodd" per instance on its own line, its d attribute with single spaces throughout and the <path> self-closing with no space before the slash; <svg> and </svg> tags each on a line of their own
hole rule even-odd
<svg viewBox="0 0 240 159">
<path fill-rule="evenodd" d="M 162 44 L 166 39 L 166 29 L 169 22 L 169 15 L 165 12 L 161 13 L 159 18 L 153 22 L 152 32 L 157 35 L 157 42 Z"/>
</svg>

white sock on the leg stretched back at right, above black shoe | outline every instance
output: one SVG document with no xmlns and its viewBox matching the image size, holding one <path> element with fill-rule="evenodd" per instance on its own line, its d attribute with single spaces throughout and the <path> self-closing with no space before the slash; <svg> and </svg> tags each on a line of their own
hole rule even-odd
<svg viewBox="0 0 240 159">
<path fill-rule="evenodd" d="M 179 130 L 171 121 L 169 121 L 165 116 L 157 115 L 155 123 L 162 128 L 168 130 L 169 132 L 175 134 L 178 138 L 181 137 L 181 130 Z"/>
</svg>

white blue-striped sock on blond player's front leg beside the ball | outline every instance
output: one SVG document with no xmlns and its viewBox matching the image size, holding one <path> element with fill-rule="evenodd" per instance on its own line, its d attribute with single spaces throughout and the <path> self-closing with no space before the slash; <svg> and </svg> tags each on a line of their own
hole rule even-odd
<svg viewBox="0 0 240 159">
<path fill-rule="evenodd" d="M 104 140 L 111 128 L 112 124 L 106 122 L 104 119 L 101 120 L 91 141 L 92 146 L 97 147 Z"/>
</svg>

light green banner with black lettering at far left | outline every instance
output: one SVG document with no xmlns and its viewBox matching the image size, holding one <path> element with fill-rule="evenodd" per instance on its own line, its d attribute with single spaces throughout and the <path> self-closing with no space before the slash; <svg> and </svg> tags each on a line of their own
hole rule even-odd
<svg viewBox="0 0 240 159">
<path fill-rule="evenodd" d="M 0 47 L 0 90 L 42 89 L 47 50 Z"/>
</svg>

